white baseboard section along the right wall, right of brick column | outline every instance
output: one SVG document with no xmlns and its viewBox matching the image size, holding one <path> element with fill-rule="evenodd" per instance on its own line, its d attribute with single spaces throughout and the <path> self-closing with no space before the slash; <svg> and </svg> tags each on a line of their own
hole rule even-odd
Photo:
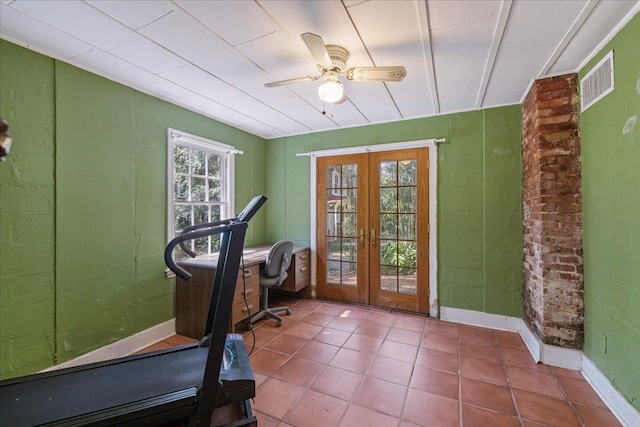
<svg viewBox="0 0 640 427">
<path fill-rule="evenodd" d="M 640 426 L 640 412 L 615 389 L 609 378 L 586 355 L 582 360 L 582 376 L 625 426 Z"/>
</svg>

